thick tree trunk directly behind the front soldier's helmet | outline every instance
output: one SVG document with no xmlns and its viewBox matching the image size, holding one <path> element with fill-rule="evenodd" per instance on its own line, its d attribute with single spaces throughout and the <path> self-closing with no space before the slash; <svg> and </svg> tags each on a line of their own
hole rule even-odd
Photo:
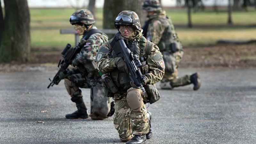
<svg viewBox="0 0 256 144">
<path fill-rule="evenodd" d="M 140 18 L 140 24 L 144 24 L 146 20 L 146 12 L 142 10 L 142 2 L 144 0 L 105 0 L 103 10 L 103 28 L 113 29 L 114 21 L 117 15 L 125 10 L 134 11 Z"/>
</svg>

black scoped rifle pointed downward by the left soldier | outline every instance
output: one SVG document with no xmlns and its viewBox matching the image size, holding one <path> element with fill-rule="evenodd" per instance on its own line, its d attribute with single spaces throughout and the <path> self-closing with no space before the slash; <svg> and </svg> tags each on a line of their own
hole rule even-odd
<svg viewBox="0 0 256 144">
<path fill-rule="evenodd" d="M 76 54 L 79 53 L 83 47 L 84 47 L 84 44 L 80 44 L 80 43 L 77 44 L 76 47 L 74 48 L 71 48 L 71 44 L 66 45 L 63 51 L 61 51 L 62 57 L 64 59 L 60 60 L 58 63 L 58 68 L 60 69 L 56 73 L 56 75 L 53 77 L 52 80 L 51 78 L 49 78 L 51 83 L 47 86 L 48 89 L 50 86 L 53 86 L 54 84 L 58 85 L 60 83 L 60 78 L 59 78 L 60 72 L 67 73 L 68 66 L 72 64 L 72 61 L 75 59 Z"/>
</svg>

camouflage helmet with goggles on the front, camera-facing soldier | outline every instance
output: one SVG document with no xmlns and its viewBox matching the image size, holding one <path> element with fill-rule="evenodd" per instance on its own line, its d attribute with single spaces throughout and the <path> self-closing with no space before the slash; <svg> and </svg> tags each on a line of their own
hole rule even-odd
<svg viewBox="0 0 256 144">
<path fill-rule="evenodd" d="M 122 11 L 118 14 L 115 20 L 115 28 L 119 28 L 120 25 L 132 25 L 132 27 L 141 30 L 139 16 L 133 11 Z"/>
</svg>

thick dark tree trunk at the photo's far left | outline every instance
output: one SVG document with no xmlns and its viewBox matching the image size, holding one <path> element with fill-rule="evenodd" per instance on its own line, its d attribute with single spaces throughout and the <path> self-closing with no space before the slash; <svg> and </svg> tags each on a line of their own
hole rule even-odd
<svg viewBox="0 0 256 144">
<path fill-rule="evenodd" d="M 30 54 L 30 14 L 27 0 L 4 0 L 4 33 L 0 62 L 25 62 Z"/>
</svg>

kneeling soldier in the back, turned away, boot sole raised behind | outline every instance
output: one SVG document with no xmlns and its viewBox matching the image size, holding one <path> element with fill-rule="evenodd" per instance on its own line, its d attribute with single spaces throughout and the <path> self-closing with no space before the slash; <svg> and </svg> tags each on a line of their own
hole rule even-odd
<svg viewBox="0 0 256 144">
<path fill-rule="evenodd" d="M 193 89 L 200 88 L 199 73 L 178 77 L 178 64 L 183 56 L 182 44 L 177 36 L 172 20 L 166 16 L 159 0 L 146 0 L 142 8 L 147 11 L 143 36 L 156 44 L 163 54 L 165 62 L 164 77 L 161 80 L 162 89 L 194 84 Z"/>
</svg>

